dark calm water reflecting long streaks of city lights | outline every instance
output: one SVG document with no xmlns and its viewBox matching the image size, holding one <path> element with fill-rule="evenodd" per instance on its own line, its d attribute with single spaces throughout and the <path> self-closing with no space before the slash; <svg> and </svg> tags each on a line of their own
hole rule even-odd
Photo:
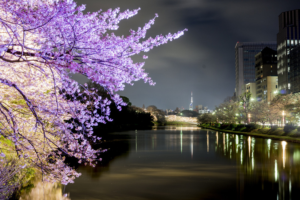
<svg viewBox="0 0 300 200">
<path fill-rule="evenodd" d="M 107 163 L 78 166 L 65 189 L 24 190 L 20 199 L 299 199 L 300 144 L 199 128 L 109 135 Z M 104 138 L 103 138 L 104 139 Z M 64 192 L 63 192 L 64 190 Z M 62 193 L 67 193 L 63 197 Z"/>
</svg>

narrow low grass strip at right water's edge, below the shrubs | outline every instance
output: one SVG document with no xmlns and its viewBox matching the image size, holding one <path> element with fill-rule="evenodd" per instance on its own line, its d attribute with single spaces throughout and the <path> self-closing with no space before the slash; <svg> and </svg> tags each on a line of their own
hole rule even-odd
<svg viewBox="0 0 300 200">
<path fill-rule="evenodd" d="M 300 136 L 290 136 L 290 135 L 283 136 L 283 135 L 273 135 L 273 134 L 269 134 L 269 133 L 255 132 L 257 130 L 251 130 L 251 132 L 241 132 L 241 131 L 218 129 L 215 127 L 207 127 L 207 126 L 202 126 L 202 125 L 197 125 L 197 126 L 205 128 L 205 129 L 224 132 L 224 133 L 233 133 L 233 134 L 237 134 L 237 135 L 266 138 L 266 139 L 276 139 L 276 140 L 300 143 Z M 258 129 L 258 131 L 259 131 L 259 129 Z"/>
</svg>

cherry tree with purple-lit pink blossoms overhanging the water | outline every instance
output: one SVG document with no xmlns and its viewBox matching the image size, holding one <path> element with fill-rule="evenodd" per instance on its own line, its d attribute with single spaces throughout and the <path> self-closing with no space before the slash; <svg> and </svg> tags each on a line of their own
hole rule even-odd
<svg viewBox="0 0 300 200">
<path fill-rule="evenodd" d="M 93 126 L 112 120 L 111 101 L 87 85 L 80 90 L 70 74 L 100 84 L 121 109 L 125 103 L 116 92 L 125 84 L 139 79 L 155 84 L 144 62 L 134 62 L 132 55 L 186 31 L 144 39 L 156 14 L 142 28 L 116 36 L 118 23 L 139 8 L 86 14 L 84 9 L 72 0 L 0 2 L 0 134 L 11 142 L 1 143 L 1 160 L 15 152 L 20 167 L 36 167 L 45 180 L 62 184 L 80 175 L 64 163 L 65 157 L 92 166 L 99 160 L 105 150 L 91 148 L 90 142 L 100 139 Z"/>
</svg>

